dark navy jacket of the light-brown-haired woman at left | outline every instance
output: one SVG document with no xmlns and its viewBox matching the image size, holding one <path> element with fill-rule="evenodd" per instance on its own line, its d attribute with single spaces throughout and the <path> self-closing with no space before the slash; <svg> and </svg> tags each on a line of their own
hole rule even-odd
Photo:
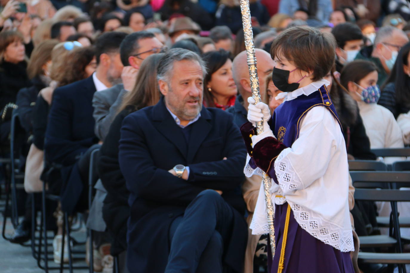
<svg viewBox="0 0 410 273">
<path fill-rule="evenodd" d="M 46 84 L 41 81 L 40 77 L 32 79 L 32 83 L 32 86 L 18 91 L 16 100 L 18 106 L 16 112 L 20 118 L 21 126 L 23 126 L 27 133 L 32 133 L 33 131 L 33 109 L 40 90 L 46 87 Z"/>
</svg>

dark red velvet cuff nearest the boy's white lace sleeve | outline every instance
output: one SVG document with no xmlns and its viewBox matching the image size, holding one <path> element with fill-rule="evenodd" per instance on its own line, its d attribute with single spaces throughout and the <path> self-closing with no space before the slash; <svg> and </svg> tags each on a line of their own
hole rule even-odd
<svg viewBox="0 0 410 273">
<path fill-rule="evenodd" d="M 253 161 L 264 172 L 269 173 L 275 159 L 287 147 L 276 138 L 267 137 L 260 140 L 253 147 Z"/>
</svg>

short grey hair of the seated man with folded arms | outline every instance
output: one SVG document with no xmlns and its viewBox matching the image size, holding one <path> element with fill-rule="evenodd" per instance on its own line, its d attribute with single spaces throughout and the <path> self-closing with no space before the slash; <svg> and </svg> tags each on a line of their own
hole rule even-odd
<svg viewBox="0 0 410 273">
<path fill-rule="evenodd" d="M 205 62 L 202 58 L 195 52 L 187 50 L 184 48 L 173 48 L 168 50 L 165 55 L 159 60 L 157 68 L 157 79 L 169 82 L 170 72 L 176 61 L 197 61 L 202 68 L 203 77 L 207 73 Z"/>
</svg>

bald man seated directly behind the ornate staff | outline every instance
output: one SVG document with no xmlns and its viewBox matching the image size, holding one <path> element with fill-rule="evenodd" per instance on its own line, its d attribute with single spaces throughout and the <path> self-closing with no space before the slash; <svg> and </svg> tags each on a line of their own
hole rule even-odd
<svg viewBox="0 0 410 273">
<path fill-rule="evenodd" d="M 257 60 L 257 72 L 259 77 L 259 89 L 262 96 L 262 101 L 267 102 L 266 96 L 266 81 L 268 77 L 272 77 L 273 60 L 271 55 L 262 50 L 255 49 Z M 248 122 L 248 97 L 252 96 L 251 80 L 249 78 L 248 64 L 246 62 L 246 51 L 239 53 L 232 63 L 233 79 L 239 91 L 239 96 L 236 98 L 235 105 L 228 109 L 228 112 L 234 115 L 234 122 L 240 127 Z"/>
</svg>

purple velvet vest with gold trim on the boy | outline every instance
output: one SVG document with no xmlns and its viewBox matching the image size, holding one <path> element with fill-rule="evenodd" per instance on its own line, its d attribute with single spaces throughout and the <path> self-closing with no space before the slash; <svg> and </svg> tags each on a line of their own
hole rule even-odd
<svg viewBox="0 0 410 273">
<path fill-rule="evenodd" d="M 335 106 L 333 106 L 333 102 L 330 100 L 328 90 L 323 85 L 319 88 L 319 92 L 315 91 L 309 96 L 300 95 L 296 99 L 280 104 L 275 109 L 272 118 L 273 126 L 271 128 L 275 128 L 273 132 L 278 140 L 283 142 L 286 147 L 291 147 L 293 142 L 299 137 L 302 118 L 315 106 L 325 106 L 335 116 L 337 122 L 339 122 Z M 339 125 L 340 129 L 342 129 L 340 122 Z"/>
</svg>

